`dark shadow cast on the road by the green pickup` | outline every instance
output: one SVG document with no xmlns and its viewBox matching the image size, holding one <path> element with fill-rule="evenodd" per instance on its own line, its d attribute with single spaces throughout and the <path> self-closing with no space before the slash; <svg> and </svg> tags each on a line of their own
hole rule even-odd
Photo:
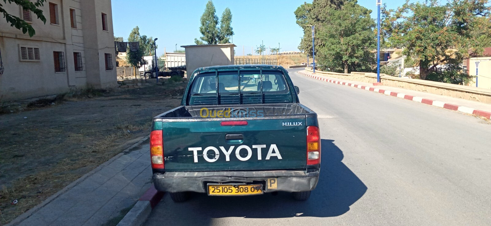
<svg viewBox="0 0 491 226">
<path fill-rule="evenodd" d="M 333 140 L 322 139 L 322 167 L 317 188 L 308 201 L 296 201 L 289 193 L 249 197 L 209 197 L 193 194 L 190 201 L 176 203 L 173 211 L 196 216 L 173 224 L 206 225 L 213 218 L 335 217 L 350 210 L 366 192 L 365 184 L 343 163 L 343 152 Z M 166 197 L 166 200 L 170 201 Z M 169 203 L 170 204 L 170 203 Z M 184 216 L 183 216 L 184 217 Z M 170 219 L 169 219 L 170 220 Z M 191 221 L 191 222 L 190 222 Z M 199 221 L 199 222 L 198 222 Z"/>
</svg>

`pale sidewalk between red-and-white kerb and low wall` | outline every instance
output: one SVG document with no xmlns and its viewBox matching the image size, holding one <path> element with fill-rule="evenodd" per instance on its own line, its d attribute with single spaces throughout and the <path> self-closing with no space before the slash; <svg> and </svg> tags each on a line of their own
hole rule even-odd
<svg viewBox="0 0 491 226">
<path fill-rule="evenodd" d="M 303 74 L 305 74 L 307 76 L 314 75 L 314 76 L 318 76 L 321 78 L 332 79 L 334 81 L 356 84 L 356 85 L 360 85 L 360 86 L 373 87 L 373 88 L 377 88 L 380 90 L 392 91 L 392 92 L 396 92 L 399 94 L 405 94 L 405 95 L 420 97 L 420 98 L 429 99 L 429 100 L 436 100 L 436 101 L 441 101 L 443 103 L 450 103 L 450 104 L 455 104 L 458 106 L 464 106 L 467 108 L 473 108 L 473 109 L 491 112 L 491 104 L 487 104 L 487 103 L 481 103 L 481 102 L 472 101 L 472 100 L 464 100 L 464 99 L 459 99 L 459 98 L 452 98 L 452 97 L 448 97 L 448 96 L 441 96 L 441 95 L 437 95 L 437 94 L 408 90 L 408 89 L 392 87 L 392 86 L 384 86 L 384 85 L 374 86 L 372 83 L 345 80 L 345 79 L 340 79 L 340 78 L 332 78 L 332 77 L 328 77 L 328 76 L 325 76 L 322 74 L 312 74 L 311 72 L 308 72 L 308 71 L 299 71 L 298 73 L 300 75 L 303 75 Z"/>
</svg>

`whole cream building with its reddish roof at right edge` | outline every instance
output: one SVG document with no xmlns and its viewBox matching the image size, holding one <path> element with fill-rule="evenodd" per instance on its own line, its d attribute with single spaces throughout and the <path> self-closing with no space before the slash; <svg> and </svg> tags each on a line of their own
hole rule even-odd
<svg viewBox="0 0 491 226">
<path fill-rule="evenodd" d="M 464 70 L 467 74 L 476 76 L 469 86 L 491 89 L 491 47 L 485 48 L 482 54 L 464 60 Z M 478 69 L 478 70 L 476 70 Z"/>
</svg>

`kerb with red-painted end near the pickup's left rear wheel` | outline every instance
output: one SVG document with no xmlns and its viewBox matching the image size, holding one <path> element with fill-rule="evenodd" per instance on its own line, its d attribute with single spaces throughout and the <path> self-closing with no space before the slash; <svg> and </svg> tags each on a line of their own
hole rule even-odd
<svg viewBox="0 0 491 226">
<path fill-rule="evenodd" d="M 157 191 L 152 184 L 116 226 L 141 226 L 163 196 L 164 192 Z"/>
</svg>

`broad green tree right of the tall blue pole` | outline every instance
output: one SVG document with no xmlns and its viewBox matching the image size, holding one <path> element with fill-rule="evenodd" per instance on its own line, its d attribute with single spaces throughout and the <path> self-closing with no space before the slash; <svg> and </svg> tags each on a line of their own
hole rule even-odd
<svg viewBox="0 0 491 226">
<path fill-rule="evenodd" d="M 439 2 L 407 1 L 397 10 L 385 10 L 386 35 L 392 45 L 404 47 L 403 54 L 413 57 L 420 79 L 464 81 L 468 78 L 451 77 L 462 76 L 464 58 L 481 53 L 490 44 L 488 0 Z M 447 78 L 443 79 L 440 68 L 457 71 L 445 73 Z"/>
</svg>

